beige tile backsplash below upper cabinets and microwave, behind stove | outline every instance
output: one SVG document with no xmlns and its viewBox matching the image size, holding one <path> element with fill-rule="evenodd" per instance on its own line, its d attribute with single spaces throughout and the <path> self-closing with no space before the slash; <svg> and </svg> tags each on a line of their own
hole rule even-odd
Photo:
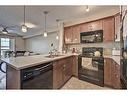
<svg viewBox="0 0 127 95">
<path fill-rule="evenodd" d="M 82 47 L 103 47 L 104 55 L 111 55 L 113 48 L 120 50 L 120 42 L 109 42 L 109 43 L 87 43 L 87 44 L 70 44 L 67 45 L 67 51 L 71 52 L 72 48 L 76 48 L 80 53 L 82 52 Z"/>
</svg>

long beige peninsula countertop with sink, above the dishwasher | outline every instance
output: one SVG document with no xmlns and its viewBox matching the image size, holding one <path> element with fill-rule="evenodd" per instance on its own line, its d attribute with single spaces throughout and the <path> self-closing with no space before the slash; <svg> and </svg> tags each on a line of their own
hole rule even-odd
<svg viewBox="0 0 127 95">
<path fill-rule="evenodd" d="M 47 58 L 47 55 L 33 55 L 33 56 L 22 56 L 22 57 L 11 57 L 11 58 L 2 58 L 1 60 L 8 63 L 13 68 L 20 70 L 31 66 L 36 66 L 39 64 L 52 62 L 58 59 L 76 56 L 77 54 L 62 54 L 62 56 L 55 58 Z"/>
</svg>

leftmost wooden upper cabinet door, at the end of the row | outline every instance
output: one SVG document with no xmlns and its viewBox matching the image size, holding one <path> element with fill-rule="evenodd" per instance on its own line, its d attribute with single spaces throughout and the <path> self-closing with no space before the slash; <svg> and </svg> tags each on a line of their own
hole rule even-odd
<svg viewBox="0 0 127 95">
<path fill-rule="evenodd" d="M 65 43 L 69 44 L 72 43 L 72 39 L 73 39 L 73 29 L 72 27 L 66 27 L 64 28 L 64 39 L 65 39 Z"/>
</svg>

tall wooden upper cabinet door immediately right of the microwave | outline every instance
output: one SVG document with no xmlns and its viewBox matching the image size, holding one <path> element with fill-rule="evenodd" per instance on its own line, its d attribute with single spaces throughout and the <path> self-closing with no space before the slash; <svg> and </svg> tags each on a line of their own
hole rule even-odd
<svg viewBox="0 0 127 95">
<path fill-rule="evenodd" d="M 103 39 L 104 42 L 114 41 L 115 32 L 114 32 L 114 17 L 109 17 L 103 19 Z"/>
</svg>

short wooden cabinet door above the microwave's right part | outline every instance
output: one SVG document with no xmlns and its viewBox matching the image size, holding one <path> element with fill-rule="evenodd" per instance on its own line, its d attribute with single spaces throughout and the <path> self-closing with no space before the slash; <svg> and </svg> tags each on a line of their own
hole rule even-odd
<svg viewBox="0 0 127 95">
<path fill-rule="evenodd" d="M 102 20 L 90 22 L 88 26 L 89 31 L 102 30 Z"/>
</svg>

